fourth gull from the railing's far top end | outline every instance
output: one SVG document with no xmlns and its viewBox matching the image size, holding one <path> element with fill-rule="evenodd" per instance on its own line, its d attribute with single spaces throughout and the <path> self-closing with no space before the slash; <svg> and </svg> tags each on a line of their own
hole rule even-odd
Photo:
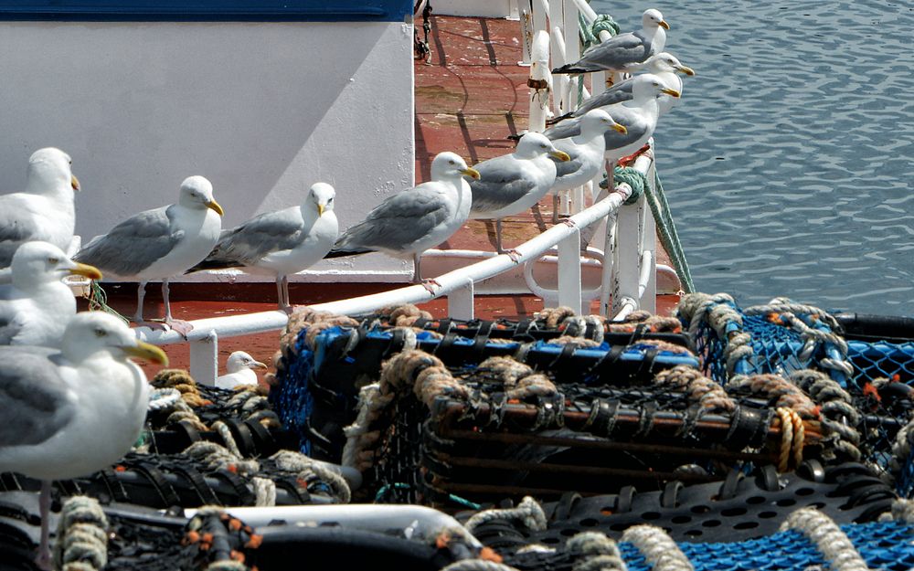
<svg viewBox="0 0 914 571">
<path fill-rule="evenodd" d="M 552 185 L 553 223 L 558 222 L 558 193 L 584 185 L 602 170 L 603 153 L 606 152 L 606 139 L 603 135 L 611 129 L 626 133 L 625 127 L 614 122 L 609 113 L 594 109 L 581 118 L 578 136 L 552 142 L 559 151 L 568 153 L 570 157 L 569 161 L 564 162 L 552 159 L 556 164 L 556 182 Z"/>
</svg>

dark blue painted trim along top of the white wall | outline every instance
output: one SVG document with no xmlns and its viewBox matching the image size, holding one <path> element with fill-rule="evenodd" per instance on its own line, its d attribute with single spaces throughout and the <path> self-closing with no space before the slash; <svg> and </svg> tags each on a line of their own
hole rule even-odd
<svg viewBox="0 0 914 571">
<path fill-rule="evenodd" d="M 412 0 L 0 0 L 0 20 L 402 22 Z"/>
</svg>

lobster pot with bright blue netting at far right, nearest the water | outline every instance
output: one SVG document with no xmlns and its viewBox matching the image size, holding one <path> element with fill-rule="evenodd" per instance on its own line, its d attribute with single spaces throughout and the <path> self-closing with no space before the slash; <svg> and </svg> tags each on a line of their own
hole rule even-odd
<svg viewBox="0 0 914 571">
<path fill-rule="evenodd" d="M 702 370 L 718 383 L 743 375 L 802 375 L 806 369 L 834 379 L 857 411 L 841 422 L 859 434 L 858 460 L 900 475 L 906 460 L 892 449 L 898 430 L 912 418 L 914 320 L 833 315 L 784 299 L 743 309 L 724 294 L 687 296 L 678 315 Z M 907 496 L 906 490 L 899 492 Z"/>
</svg>

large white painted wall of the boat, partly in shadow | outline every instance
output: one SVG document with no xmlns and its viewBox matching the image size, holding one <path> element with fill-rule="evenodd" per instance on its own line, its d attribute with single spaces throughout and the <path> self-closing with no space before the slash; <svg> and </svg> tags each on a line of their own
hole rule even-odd
<svg viewBox="0 0 914 571">
<path fill-rule="evenodd" d="M 414 183 L 405 23 L 2 22 L 0 53 L 2 189 L 23 187 L 35 149 L 66 150 L 87 241 L 174 202 L 188 174 L 213 182 L 224 226 L 325 181 L 345 228 Z M 375 255 L 315 270 L 396 280 L 411 266 Z"/>
</svg>

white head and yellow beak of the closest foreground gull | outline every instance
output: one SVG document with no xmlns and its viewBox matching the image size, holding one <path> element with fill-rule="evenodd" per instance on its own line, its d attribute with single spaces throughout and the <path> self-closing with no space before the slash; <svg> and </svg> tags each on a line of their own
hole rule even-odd
<svg viewBox="0 0 914 571">
<path fill-rule="evenodd" d="M 137 357 L 168 365 L 162 349 L 136 338 L 120 319 L 105 312 L 81 312 L 70 318 L 63 332 L 63 354 L 74 364 L 99 355 L 116 361 Z"/>
</svg>

